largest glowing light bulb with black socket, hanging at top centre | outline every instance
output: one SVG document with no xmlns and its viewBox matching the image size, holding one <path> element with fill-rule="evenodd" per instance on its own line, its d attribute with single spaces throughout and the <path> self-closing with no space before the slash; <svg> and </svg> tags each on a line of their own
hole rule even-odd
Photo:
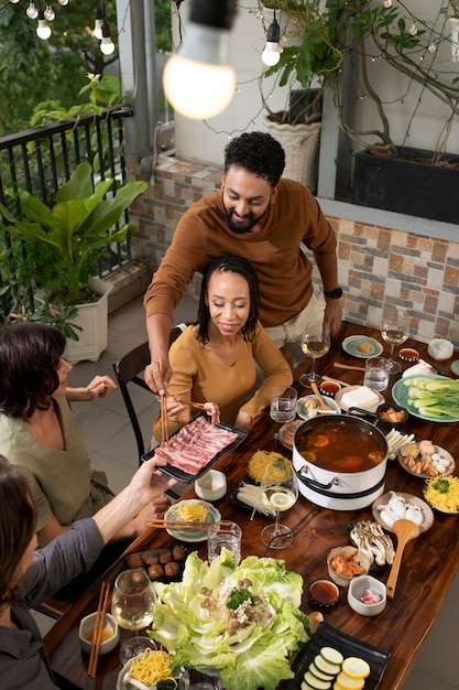
<svg viewBox="0 0 459 690">
<path fill-rule="evenodd" d="M 194 0 L 185 43 L 164 69 L 167 100 L 186 117 L 200 120 L 225 110 L 236 89 L 228 64 L 229 30 L 236 0 Z"/>
</svg>

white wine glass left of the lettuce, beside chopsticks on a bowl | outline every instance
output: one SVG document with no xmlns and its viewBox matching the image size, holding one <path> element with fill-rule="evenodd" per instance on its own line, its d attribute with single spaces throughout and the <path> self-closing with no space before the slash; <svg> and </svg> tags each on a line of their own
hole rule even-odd
<svg viewBox="0 0 459 690">
<path fill-rule="evenodd" d="M 153 621 L 156 594 L 143 568 L 124 570 L 118 575 L 111 599 L 111 613 L 122 628 L 136 630 L 135 637 L 128 639 L 120 649 L 120 661 L 123 666 L 147 647 L 156 649 L 150 637 L 139 636 L 139 630 Z"/>
</svg>

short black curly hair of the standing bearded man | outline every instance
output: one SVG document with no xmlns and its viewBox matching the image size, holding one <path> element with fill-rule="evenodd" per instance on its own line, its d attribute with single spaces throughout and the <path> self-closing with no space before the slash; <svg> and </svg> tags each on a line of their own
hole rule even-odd
<svg viewBox="0 0 459 690">
<path fill-rule="evenodd" d="M 244 132 L 225 149 L 225 174 L 231 165 L 263 177 L 274 188 L 284 172 L 284 149 L 266 132 Z"/>
</svg>

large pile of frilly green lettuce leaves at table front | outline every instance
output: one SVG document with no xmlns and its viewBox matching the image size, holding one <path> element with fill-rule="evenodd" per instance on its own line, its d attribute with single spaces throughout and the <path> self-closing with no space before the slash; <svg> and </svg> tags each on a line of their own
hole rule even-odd
<svg viewBox="0 0 459 690">
<path fill-rule="evenodd" d="M 196 551 L 181 582 L 155 582 L 150 636 L 173 657 L 172 669 L 217 668 L 225 690 L 275 690 L 294 677 L 288 657 L 310 639 L 299 610 L 303 578 L 283 560 L 250 556 L 236 565 L 223 549 L 209 565 Z"/>
</svg>

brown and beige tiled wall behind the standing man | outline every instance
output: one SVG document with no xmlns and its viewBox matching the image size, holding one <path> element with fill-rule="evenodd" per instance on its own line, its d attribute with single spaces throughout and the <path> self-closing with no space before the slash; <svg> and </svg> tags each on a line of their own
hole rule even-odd
<svg viewBox="0 0 459 690">
<path fill-rule="evenodd" d="M 132 208 L 134 251 L 157 267 L 175 226 L 195 201 L 218 190 L 221 168 L 160 157 L 154 179 Z M 379 327 L 389 311 L 408 310 L 411 332 L 422 342 L 448 337 L 459 348 L 459 240 L 329 218 L 338 238 L 345 317 Z M 315 281 L 320 285 L 318 271 Z M 199 294 L 196 277 L 189 294 Z"/>
</svg>

